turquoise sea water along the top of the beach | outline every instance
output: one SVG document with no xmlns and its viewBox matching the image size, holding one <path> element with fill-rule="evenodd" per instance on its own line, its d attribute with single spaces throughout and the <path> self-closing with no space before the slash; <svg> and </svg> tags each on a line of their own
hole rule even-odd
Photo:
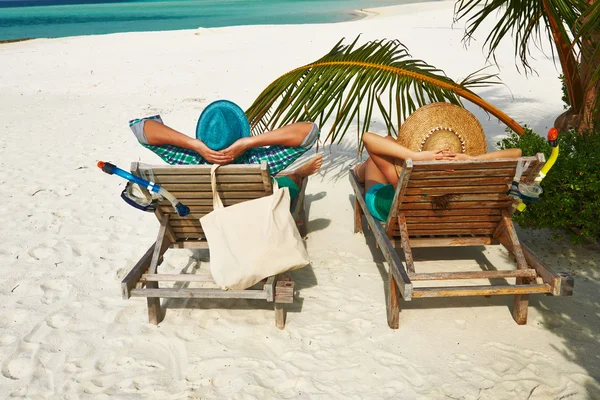
<svg viewBox="0 0 600 400">
<path fill-rule="evenodd" d="M 420 0 L 0 0 L 0 40 L 348 21 Z"/>
</svg>

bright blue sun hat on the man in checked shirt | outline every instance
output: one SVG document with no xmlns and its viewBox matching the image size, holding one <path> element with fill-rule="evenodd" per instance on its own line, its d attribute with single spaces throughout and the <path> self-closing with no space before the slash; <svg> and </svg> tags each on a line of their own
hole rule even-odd
<svg viewBox="0 0 600 400">
<path fill-rule="evenodd" d="M 218 151 L 231 146 L 236 140 L 250 136 L 250 123 L 244 110 L 229 100 L 210 103 L 200 114 L 196 138 Z"/>
</svg>

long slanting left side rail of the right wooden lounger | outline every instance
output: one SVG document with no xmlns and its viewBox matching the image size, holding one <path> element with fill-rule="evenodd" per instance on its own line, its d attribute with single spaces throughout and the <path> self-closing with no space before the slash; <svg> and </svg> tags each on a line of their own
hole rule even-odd
<svg viewBox="0 0 600 400">
<path fill-rule="evenodd" d="M 398 257 L 396 249 L 390 243 L 390 240 L 388 239 L 387 234 L 381 224 L 378 221 L 375 221 L 371 213 L 368 212 L 364 198 L 364 188 L 358 182 L 354 174 L 349 174 L 348 176 L 350 177 L 350 185 L 354 190 L 356 199 L 358 199 L 358 202 L 365 214 L 365 219 L 371 227 L 371 230 L 375 235 L 375 239 L 379 244 L 379 248 L 381 249 L 384 258 L 390 267 L 390 271 L 392 272 L 394 279 L 396 280 L 398 290 L 400 290 L 404 300 L 409 301 L 411 299 L 412 283 L 410 282 L 406 270 L 404 269 L 402 260 L 400 260 L 400 257 Z"/>
</svg>

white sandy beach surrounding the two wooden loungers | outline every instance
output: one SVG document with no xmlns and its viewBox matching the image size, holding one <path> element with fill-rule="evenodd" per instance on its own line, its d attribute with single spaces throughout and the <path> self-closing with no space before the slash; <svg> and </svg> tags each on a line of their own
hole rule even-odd
<svg viewBox="0 0 600 400">
<path fill-rule="evenodd" d="M 597 249 L 520 231 L 546 263 L 576 278 L 574 297 L 532 296 L 526 326 L 513 322 L 512 297 L 494 297 L 403 303 L 401 328 L 387 327 L 383 257 L 370 234 L 352 233 L 352 130 L 343 146 L 326 148 L 307 189 L 312 266 L 293 273 L 298 298 L 285 330 L 266 303 L 163 301 L 166 318 L 155 327 L 143 299 L 120 297 L 121 279 L 158 229 L 153 215 L 119 199 L 124 182 L 95 166 L 160 161 L 137 144 L 128 119 L 160 113 L 191 134 L 210 101 L 246 108 L 280 74 L 359 33 L 398 38 L 460 79 L 484 65 L 484 36 L 466 50 L 452 7 L 392 7 L 340 24 L 1 45 L 0 396 L 600 398 Z M 539 76 L 527 79 L 506 43 L 498 60 L 512 95 L 503 86 L 479 94 L 544 133 L 562 110 L 559 71 L 548 56 L 534 57 Z M 504 127 L 469 108 L 492 148 Z M 376 119 L 373 129 L 381 127 Z M 417 268 L 512 265 L 500 248 L 477 250 L 415 251 L 417 260 L 441 260 Z M 189 271 L 192 255 L 169 251 L 161 268 Z"/>
</svg>

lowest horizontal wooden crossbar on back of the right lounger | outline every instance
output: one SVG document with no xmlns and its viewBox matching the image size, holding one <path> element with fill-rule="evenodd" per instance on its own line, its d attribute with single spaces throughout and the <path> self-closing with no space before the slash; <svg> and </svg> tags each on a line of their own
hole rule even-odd
<svg viewBox="0 0 600 400">
<path fill-rule="evenodd" d="M 413 298 L 422 297 L 462 297 L 462 296 L 501 296 L 514 294 L 550 293 L 550 285 L 504 285 L 504 286 L 451 286 L 415 287 Z"/>
</svg>

